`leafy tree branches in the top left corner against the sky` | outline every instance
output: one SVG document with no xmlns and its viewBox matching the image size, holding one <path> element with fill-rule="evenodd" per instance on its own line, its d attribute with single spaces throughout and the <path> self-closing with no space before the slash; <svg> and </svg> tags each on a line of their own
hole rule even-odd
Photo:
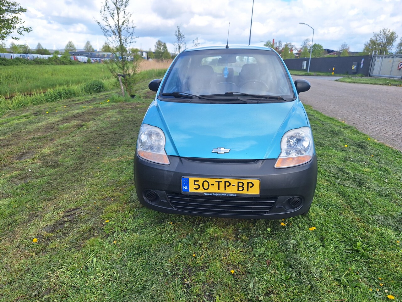
<svg viewBox="0 0 402 302">
<path fill-rule="evenodd" d="M 19 14 L 26 12 L 27 9 L 20 6 L 17 2 L 0 0 L 0 41 L 5 40 L 11 35 L 11 39 L 19 40 L 19 37 L 12 35 L 17 33 L 23 35 L 32 31 L 32 27 L 24 27 L 24 22 Z"/>
</svg>

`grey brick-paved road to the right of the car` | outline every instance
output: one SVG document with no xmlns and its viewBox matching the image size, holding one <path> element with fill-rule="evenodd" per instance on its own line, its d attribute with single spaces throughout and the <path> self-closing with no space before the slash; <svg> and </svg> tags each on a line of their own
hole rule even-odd
<svg viewBox="0 0 402 302">
<path fill-rule="evenodd" d="M 310 82 L 300 94 L 304 104 L 345 121 L 377 141 L 402 151 L 402 87 L 328 81 L 332 77 L 301 77 Z"/>
</svg>

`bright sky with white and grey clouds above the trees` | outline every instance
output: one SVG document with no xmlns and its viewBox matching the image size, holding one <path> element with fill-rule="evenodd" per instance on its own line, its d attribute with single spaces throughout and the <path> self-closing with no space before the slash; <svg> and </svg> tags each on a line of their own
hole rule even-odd
<svg viewBox="0 0 402 302">
<path fill-rule="evenodd" d="M 84 48 L 90 41 L 102 47 L 105 37 L 100 20 L 104 0 L 16 0 L 27 12 L 21 16 L 32 32 L 21 37 L 31 48 L 64 49 L 68 41 Z M 131 0 L 130 11 L 138 36 L 133 47 L 152 49 L 157 40 L 174 51 L 175 30 L 185 34 L 187 46 L 198 38 L 201 45 L 248 44 L 252 0 Z M 360 52 L 373 32 L 383 27 L 402 37 L 402 0 L 254 0 L 251 44 L 275 39 L 297 48 L 306 38 L 324 48 L 338 50 L 343 42 Z M 6 41 L 8 46 L 11 40 Z"/>
</svg>

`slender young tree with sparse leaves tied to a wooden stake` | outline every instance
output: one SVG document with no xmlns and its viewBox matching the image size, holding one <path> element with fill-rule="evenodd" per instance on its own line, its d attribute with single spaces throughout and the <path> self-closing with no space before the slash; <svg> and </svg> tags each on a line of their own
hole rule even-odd
<svg viewBox="0 0 402 302">
<path fill-rule="evenodd" d="M 113 50 L 114 59 L 107 60 L 107 67 L 113 76 L 121 79 L 125 90 L 133 95 L 133 85 L 137 74 L 139 60 L 129 60 L 127 50 L 135 43 L 132 14 L 129 0 L 105 0 L 100 10 L 100 21 L 96 20 L 107 43 Z"/>
</svg>

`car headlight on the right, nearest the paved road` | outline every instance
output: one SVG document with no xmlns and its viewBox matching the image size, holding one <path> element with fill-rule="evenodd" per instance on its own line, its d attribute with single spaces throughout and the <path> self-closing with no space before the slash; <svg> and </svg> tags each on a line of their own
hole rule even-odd
<svg viewBox="0 0 402 302">
<path fill-rule="evenodd" d="M 275 168 L 294 167 L 309 162 L 313 157 L 313 134 L 309 127 L 286 132 L 281 139 L 281 154 Z"/>
</svg>

